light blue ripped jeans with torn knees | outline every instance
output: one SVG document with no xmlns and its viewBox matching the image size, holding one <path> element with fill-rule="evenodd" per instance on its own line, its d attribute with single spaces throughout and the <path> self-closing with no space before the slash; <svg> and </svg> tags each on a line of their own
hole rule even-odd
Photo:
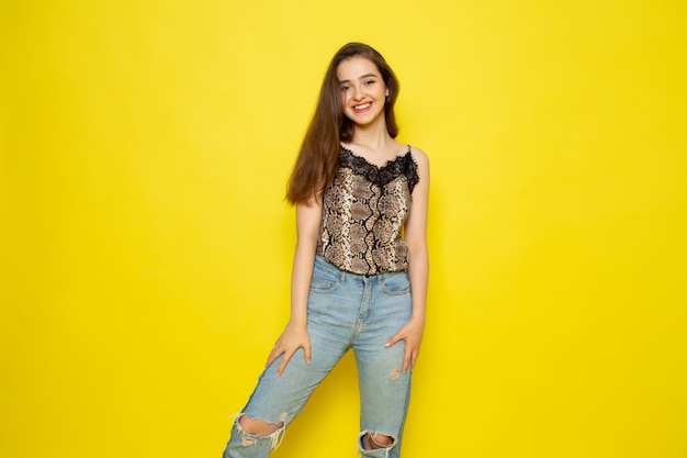
<svg viewBox="0 0 687 458">
<path fill-rule="evenodd" d="M 248 404 L 234 422 L 223 458 L 266 458 L 277 448 L 288 425 L 301 413 L 313 391 L 352 348 L 360 389 L 360 436 L 363 457 L 397 458 L 410 396 L 410 370 L 402 373 L 405 343 L 384 344 L 410 319 L 410 282 L 405 271 L 361 276 L 315 258 L 307 303 L 312 361 L 300 348 L 281 377 L 280 359 L 258 380 Z M 240 416 L 278 424 L 267 437 L 245 432 Z M 367 433 L 393 438 L 387 448 L 367 450 Z"/>
</svg>

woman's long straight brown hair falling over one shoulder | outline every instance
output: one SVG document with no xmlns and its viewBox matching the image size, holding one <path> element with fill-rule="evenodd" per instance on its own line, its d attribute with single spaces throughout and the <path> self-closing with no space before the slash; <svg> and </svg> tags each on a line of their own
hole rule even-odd
<svg viewBox="0 0 687 458">
<path fill-rule="evenodd" d="M 353 138 L 356 125 L 344 115 L 337 68 L 344 60 L 358 56 L 372 62 L 382 75 L 388 89 L 384 103 L 386 130 L 392 138 L 398 135 L 394 114 L 394 104 L 398 97 L 396 75 L 384 57 L 371 46 L 362 43 L 344 45 L 329 63 L 315 114 L 307 127 L 301 152 L 289 179 L 286 200 L 292 204 L 309 203 L 322 198 L 337 175 L 340 143 L 350 142 Z"/>
</svg>

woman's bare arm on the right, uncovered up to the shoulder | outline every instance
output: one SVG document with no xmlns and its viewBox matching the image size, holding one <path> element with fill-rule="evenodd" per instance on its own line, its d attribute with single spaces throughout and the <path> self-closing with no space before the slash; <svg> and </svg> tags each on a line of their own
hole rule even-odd
<svg viewBox="0 0 687 458">
<path fill-rule="evenodd" d="M 405 242 L 408 245 L 408 277 L 413 294 L 410 320 L 387 343 L 392 346 L 405 340 L 403 372 L 414 368 L 420 351 L 425 332 L 427 283 L 429 279 L 429 256 L 427 252 L 427 209 L 429 201 L 429 160 L 425 153 L 413 149 L 418 166 L 419 181 L 413 190 L 413 206 L 405 225 Z"/>
</svg>

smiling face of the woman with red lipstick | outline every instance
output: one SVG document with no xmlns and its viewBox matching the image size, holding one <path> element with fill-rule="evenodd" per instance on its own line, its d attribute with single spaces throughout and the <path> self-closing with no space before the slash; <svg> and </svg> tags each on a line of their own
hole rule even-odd
<svg viewBox="0 0 687 458">
<path fill-rule="evenodd" d="M 339 64 L 344 114 L 357 125 L 385 122 L 384 103 L 388 90 L 376 65 L 365 57 L 351 57 Z"/>
</svg>

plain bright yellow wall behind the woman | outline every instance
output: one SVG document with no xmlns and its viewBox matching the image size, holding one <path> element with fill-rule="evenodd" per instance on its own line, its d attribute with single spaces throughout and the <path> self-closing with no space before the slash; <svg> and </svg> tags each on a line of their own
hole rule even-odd
<svg viewBox="0 0 687 458">
<path fill-rule="evenodd" d="M 684 1 L 4 3 L 0 456 L 218 456 L 348 41 L 432 164 L 405 456 L 687 456 Z M 353 366 L 275 456 L 354 456 Z"/>
</svg>

